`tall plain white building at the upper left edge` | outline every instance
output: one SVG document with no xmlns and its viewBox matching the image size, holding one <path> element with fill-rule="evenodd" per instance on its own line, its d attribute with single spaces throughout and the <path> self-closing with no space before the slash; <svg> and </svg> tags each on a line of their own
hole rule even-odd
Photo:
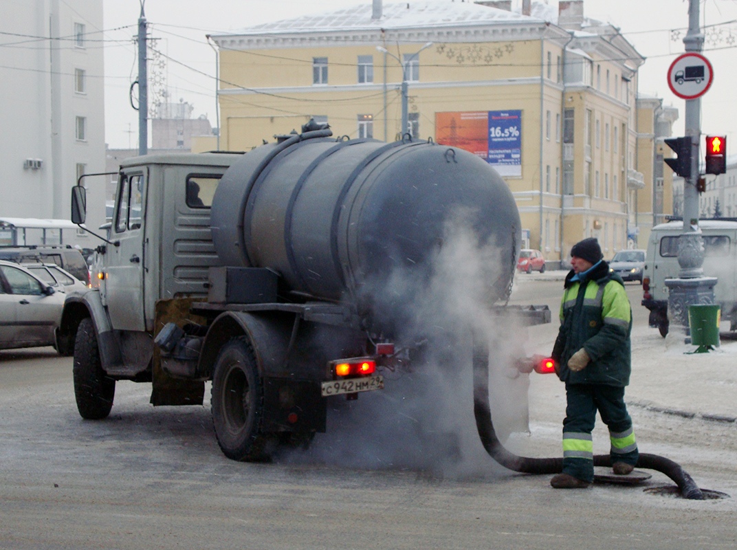
<svg viewBox="0 0 737 550">
<path fill-rule="evenodd" d="M 5 0 L 0 30 L 0 216 L 69 220 L 77 177 L 105 169 L 102 0 Z M 94 230 L 105 179 L 85 185 Z"/>
</svg>

